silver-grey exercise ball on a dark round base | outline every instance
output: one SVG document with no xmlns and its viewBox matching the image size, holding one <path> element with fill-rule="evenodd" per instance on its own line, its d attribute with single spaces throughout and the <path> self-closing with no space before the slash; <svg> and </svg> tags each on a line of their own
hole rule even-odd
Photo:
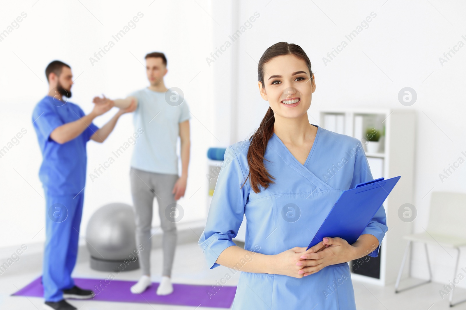
<svg viewBox="0 0 466 310">
<path fill-rule="evenodd" d="M 135 231 L 129 204 L 106 204 L 94 212 L 86 228 L 91 268 L 117 272 L 138 269 Z"/>
</svg>

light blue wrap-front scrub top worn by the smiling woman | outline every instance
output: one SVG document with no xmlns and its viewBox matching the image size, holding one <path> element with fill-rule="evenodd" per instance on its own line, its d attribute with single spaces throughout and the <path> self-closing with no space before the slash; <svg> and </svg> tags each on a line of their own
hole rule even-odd
<svg viewBox="0 0 466 310">
<path fill-rule="evenodd" d="M 318 127 L 318 126 L 317 126 Z M 212 269 L 220 253 L 235 245 L 246 216 L 245 249 L 274 255 L 307 247 L 343 190 L 372 180 L 358 139 L 317 128 L 314 144 L 301 164 L 274 133 L 267 143 L 264 165 L 275 178 L 267 190 L 252 191 L 248 175 L 249 140 L 228 146 L 219 172 L 206 228 L 199 238 L 207 266 Z M 290 213 L 291 212 L 291 213 Z M 362 234 L 384 238 L 386 216 L 381 206 Z M 378 255 L 380 245 L 369 256 Z M 240 267 L 253 257 L 238 261 Z M 221 284 L 237 272 L 228 269 Z M 212 291 L 212 295 L 215 291 Z M 302 278 L 241 272 L 232 309 L 344 309 L 355 310 L 349 264 L 324 267 Z"/>
</svg>

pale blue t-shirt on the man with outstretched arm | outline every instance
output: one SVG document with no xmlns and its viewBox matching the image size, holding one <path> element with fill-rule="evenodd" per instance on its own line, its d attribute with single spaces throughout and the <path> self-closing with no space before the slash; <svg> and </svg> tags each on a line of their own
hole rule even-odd
<svg viewBox="0 0 466 310">
<path fill-rule="evenodd" d="M 185 100 L 179 105 L 165 99 L 165 92 L 144 88 L 130 93 L 137 98 L 134 129 L 144 130 L 136 139 L 131 167 L 143 171 L 178 174 L 177 142 L 179 123 L 191 119 Z M 170 102 L 170 104 L 168 103 Z M 140 129 L 139 129 L 140 130 Z"/>
</svg>

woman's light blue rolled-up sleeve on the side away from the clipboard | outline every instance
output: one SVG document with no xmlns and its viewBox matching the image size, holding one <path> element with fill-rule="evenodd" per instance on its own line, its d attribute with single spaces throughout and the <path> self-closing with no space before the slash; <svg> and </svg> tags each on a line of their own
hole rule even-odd
<svg viewBox="0 0 466 310">
<path fill-rule="evenodd" d="M 247 184 L 241 186 L 243 183 L 240 161 L 233 148 L 228 146 L 213 192 L 206 227 L 198 243 L 209 269 L 219 266 L 215 262 L 223 250 L 236 245 L 232 238 L 238 234 L 243 221 L 248 196 Z"/>
</svg>

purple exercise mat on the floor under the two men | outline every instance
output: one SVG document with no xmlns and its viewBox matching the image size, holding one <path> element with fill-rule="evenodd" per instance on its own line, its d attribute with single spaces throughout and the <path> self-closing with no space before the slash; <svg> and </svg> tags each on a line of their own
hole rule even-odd
<svg viewBox="0 0 466 310">
<path fill-rule="evenodd" d="M 80 288 L 93 290 L 96 293 L 94 299 L 89 300 L 111 302 L 162 303 L 195 307 L 230 308 L 236 293 L 236 286 L 173 284 L 173 293 L 159 296 L 156 294 L 158 283 L 152 282 L 151 287 L 142 294 L 132 294 L 130 287 L 136 281 L 85 278 L 74 278 L 74 280 L 75 284 Z M 100 292 L 96 289 L 96 285 L 97 287 L 102 287 Z M 13 295 L 43 297 L 44 289 L 41 284 L 41 277 L 27 284 Z"/>
</svg>

